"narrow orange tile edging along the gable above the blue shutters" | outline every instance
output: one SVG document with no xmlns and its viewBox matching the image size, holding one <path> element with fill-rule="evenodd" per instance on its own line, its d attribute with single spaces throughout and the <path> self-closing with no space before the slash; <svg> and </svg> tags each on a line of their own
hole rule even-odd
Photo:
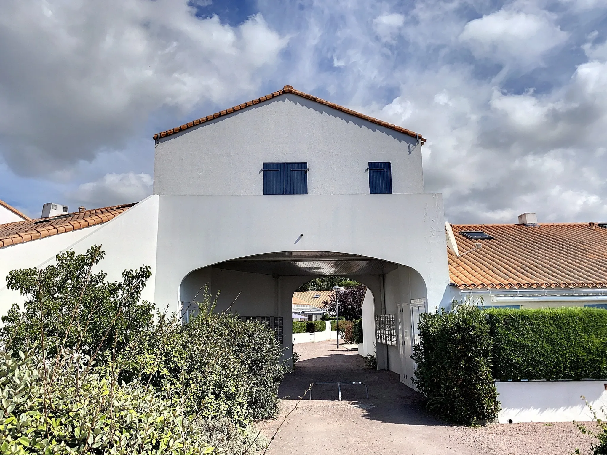
<svg viewBox="0 0 607 455">
<path fill-rule="evenodd" d="M 263 101 L 268 101 L 269 99 L 276 98 L 276 96 L 284 95 L 285 93 L 293 93 L 294 95 L 302 96 L 302 98 L 310 99 L 311 101 L 316 101 L 316 103 L 324 104 L 325 106 L 332 107 L 333 109 L 341 110 L 341 112 L 348 113 L 350 115 L 354 115 L 358 118 L 362 118 L 363 120 L 370 121 L 371 123 L 376 123 L 378 125 L 384 126 L 386 128 L 393 129 L 395 131 L 405 133 L 414 138 L 419 138 L 421 143 L 425 143 L 426 139 L 424 139 L 421 134 L 416 133 L 415 131 L 411 131 L 405 129 L 401 126 L 388 123 L 382 120 L 378 120 L 376 118 L 370 117 L 368 115 L 364 115 L 360 112 L 356 112 L 355 110 L 348 109 L 347 107 L 339 106 L 339 104 L 330 103 L 329 101 L 325 101 L 324 99 L 318 98 L 317 96 L 308 95 L 308 93 L 300 92 L 299 90 L 295 90 L 291 86 L 285 86 L 282 90 L 278 90 L 277 92 L 270 93 L 270 95 L 265 95 L 260 98 L 253 99 L 251 101 L 247 101 L 246 103 L 239 104 L 238 106 L 230 107 L 229 109 L 222 110 L 220 112 L 215 112 L 214 114 L 207 115 L 206 117 L 199 118 L 198 120 L 191 121 L 189 123 L 185 123 L 181 126 L 175 127 L 170 130 L 162 131 L 160 133 L 156 133 L 154 135 L 154 140 L 158 140 L 165 136 L 169 136 L 171 134 L 178 133 L 180 131 L 191 128 L 192 126 L 199 125 L 201 123 L 205 123 L 207 121 L 213 120 L 214 118 L 220 117 L 222 115 L 228 115 L 232 112 L 236 112 L 240 109 L 245 109 L 246 107 L 253 106 L 254 104 L 262 103 Z"/>
</svg>

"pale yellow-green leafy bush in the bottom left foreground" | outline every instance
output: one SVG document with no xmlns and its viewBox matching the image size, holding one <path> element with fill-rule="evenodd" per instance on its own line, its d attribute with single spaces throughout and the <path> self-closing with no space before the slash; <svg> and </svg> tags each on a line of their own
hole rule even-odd
<svg viewBox="0 0 607 455">
<path fill-rule="evenodd" d="M 89 357 L 75 354 L 0 352 L 2 453 L 214 453 L 180 406 L 140 382 L 87 373 Z"/>
</svg>

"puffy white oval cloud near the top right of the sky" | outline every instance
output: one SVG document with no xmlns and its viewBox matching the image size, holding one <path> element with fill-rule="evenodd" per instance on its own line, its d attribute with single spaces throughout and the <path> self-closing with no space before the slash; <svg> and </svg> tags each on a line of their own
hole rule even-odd
<svg viewBox="0 0 607 455">
<path fill-rule="evenodd" d="M 477 58 L 523 67 L 541 66 L 544 55 L 567 38 L 553 15 L 507 8 L 468 22 L 459 35 Z"/>
</svg>

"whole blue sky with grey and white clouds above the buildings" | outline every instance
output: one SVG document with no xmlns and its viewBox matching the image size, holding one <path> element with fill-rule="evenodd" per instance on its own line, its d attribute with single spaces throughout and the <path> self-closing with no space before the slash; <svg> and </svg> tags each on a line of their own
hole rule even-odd
<svg viewBox="0 0 607 455">
<path fill-rule="evenodd" d="M 607 221 L 607 0 L 4 0 L 0 199 L 152 190 L 159 130 L 290 84 L 421 132 L 452 222 Z"/>
</svg>

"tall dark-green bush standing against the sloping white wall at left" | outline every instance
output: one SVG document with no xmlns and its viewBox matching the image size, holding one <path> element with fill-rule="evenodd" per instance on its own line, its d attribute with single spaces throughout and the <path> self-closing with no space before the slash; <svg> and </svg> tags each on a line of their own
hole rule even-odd
<svg viewBox="0 0 607 455">
<path fill-rule="evenodd" d="M 154 315 L 153 303 L 140 302 L 150 268 L 124 271 L 123 281 L 109 283 L 104 272 L 92 272 L 104 256 L 95 245 L 86 254 L 57 255 L 56 265 L 44 269 L 10 272 L 7 288 L 19 291 L 26 300 L 23 310 L 15 304 L 2 316 L 2 335 L 10 340 L 7 348 L 29 350 L 39 339 L 41 314 L 49 356 L 63 348 L 95 357 L 92 349 L 120 351 L 136 339 Z"/>
</svg>

